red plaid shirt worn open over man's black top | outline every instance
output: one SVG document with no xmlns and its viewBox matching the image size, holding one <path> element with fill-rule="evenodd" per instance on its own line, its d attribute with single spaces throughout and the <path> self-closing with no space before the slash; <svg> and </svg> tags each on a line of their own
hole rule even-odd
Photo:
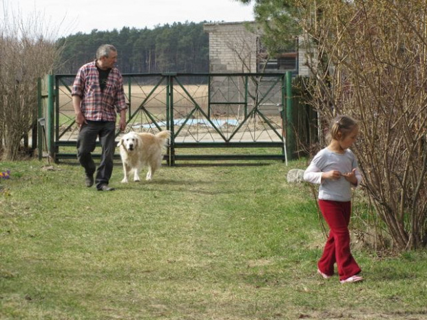
<svg viewBox="0 0 427 320">
<path fill-rule="evenodd" d="M 81 97 L 80 109 L 87 120 L 116 121 L 116 112 L 127 109 L 121 73 L 113 67 L 101 92 L 95 61 L 79 69 L 71 94 Z"/>
</svg>

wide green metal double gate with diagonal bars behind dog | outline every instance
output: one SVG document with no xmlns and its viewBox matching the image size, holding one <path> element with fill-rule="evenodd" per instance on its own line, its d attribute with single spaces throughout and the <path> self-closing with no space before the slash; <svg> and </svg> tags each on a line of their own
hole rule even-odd
<svg viewBox="0 0 427 320">
<path fill-rule="evenodd" d="M 129 106 L 126 131 L 170 130 L 165 156 L 169 165 L 179 160 L 294 158 L 291 72 L 123 74 L 123 79 Z M 39 129 L 45 129 L 56 162 L 76 158 L 73 81 L 74 75 L 56 74 L 39 85 L 39 123 L 45 120 Z M 39 130 L 39 142 L 42 134 Z M 238 151 L 230 153 L 230 148 Z M 270 152 L 257 151 L 260 148 Z M 94 157 L 100 153 L 95 150 Z"/>
</svg>

